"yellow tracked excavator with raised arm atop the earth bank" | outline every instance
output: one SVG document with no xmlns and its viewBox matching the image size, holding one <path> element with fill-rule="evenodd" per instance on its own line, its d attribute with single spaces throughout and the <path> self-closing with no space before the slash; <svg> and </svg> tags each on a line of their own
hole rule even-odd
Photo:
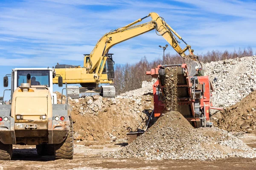
<svg viewBox="0 0 256 170">
<path fill-rule="evenodd" d="M 136 25 L 147 17 L 151 17 L 152 20 Z M 105 34 L 97 42 L 93 51 L 90 54 L 84 55 L 83 67 L 57 64 L 55 66 L 56 75 L 63 77 L 63 81 L 67 82 L 67 84 L 80 84 L 80 94 L 99 93 L 103 97 L 115 97 L 115 88 L 113 85 L 99 87 L 102 83 L 112 84 L 114 80 L 113 54 L 108 53 L 110 48 L 113 45 L 137 37 L 153 29 L 155 29 L 157 35 L 163 36 L 181 57 L 197 60 L 198 57 L 193 54 L 191 46 L 165 22 L 163 17 L 151 12 L 147 16 L 127 26 L 117 28 Z M 186 47 L 184 49 L 180 47 L 180 42 L 178 42 L 174 34 L 185 43 Z M 185 54 L 187 50 L 189 51 L 188 55 Z M 57 77 L 53 79 L 53 83 L 58 84 Z"/>
</svg>

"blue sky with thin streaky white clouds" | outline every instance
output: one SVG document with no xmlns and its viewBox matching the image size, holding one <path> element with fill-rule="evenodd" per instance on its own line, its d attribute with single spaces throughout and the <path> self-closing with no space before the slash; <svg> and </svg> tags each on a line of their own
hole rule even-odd
<svg viewBox="0 0 256 170">
<path fill-rule="evenodd" d="M 195 54 L 248 45 L 256 49 L 253 0 L 0 0 L 0 76 L 16 67 L 83 65 L 83 54 L 105 33 L 150 12 L 163 17 Z M 165 44 L 151 31 L 115 45 L 110 53 L 119 64 L 144 56 L 150 61 L 162 56 L 158 45 Z M 176 53 L 171 47 L 166 52 Z M 2 79 L 0 85 L 3 91 Z"/>
</svg>

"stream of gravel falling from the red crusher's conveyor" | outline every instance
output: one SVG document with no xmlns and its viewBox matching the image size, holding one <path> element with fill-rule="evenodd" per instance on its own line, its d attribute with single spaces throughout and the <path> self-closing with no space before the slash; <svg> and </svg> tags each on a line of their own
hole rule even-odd
<svg viewBox="0 0 256 170">
<path fill-rule="evenodd" d="M 165 95 L 163 101 L 167 111 L 177 111 L 177 67 L 168 67 L 164 75 Z"/>
</svg>

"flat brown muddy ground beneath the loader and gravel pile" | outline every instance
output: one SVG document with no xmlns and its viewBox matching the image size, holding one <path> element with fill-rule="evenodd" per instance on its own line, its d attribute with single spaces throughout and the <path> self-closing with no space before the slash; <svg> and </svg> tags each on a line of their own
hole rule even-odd
<svg viewBox="0 0 256 170">
<path fill-rule="evenodd" d="M 239 136 L 251 147 L 256 146 L 255 134 Z M 215 161 L 196 160 L 160 160 L 145 161 L 141 159 L 104 159 L 98 154 L 120 150 L 126 143 L 75 142 L 73 160 L 54 160 L 53 156 L 38 156 L 35 146 L 13 146 L 13 160 L 0 161 L 0 170 L 253 170 L 256 159 L 229 158 Z"/>
</svg>

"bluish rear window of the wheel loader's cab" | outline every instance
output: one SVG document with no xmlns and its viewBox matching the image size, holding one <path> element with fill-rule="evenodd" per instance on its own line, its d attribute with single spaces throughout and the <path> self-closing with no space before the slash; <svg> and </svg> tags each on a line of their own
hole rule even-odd
<svg viewBox="0 0 256 170">
<path fill-rule="evenodd" d="M 17 71 L 17 87 L 27 82 L 27 74 L 31 75 L 31 85 L 49 85 L 50 71 L 48 70 L 19 70 Z"/>
</svg>

